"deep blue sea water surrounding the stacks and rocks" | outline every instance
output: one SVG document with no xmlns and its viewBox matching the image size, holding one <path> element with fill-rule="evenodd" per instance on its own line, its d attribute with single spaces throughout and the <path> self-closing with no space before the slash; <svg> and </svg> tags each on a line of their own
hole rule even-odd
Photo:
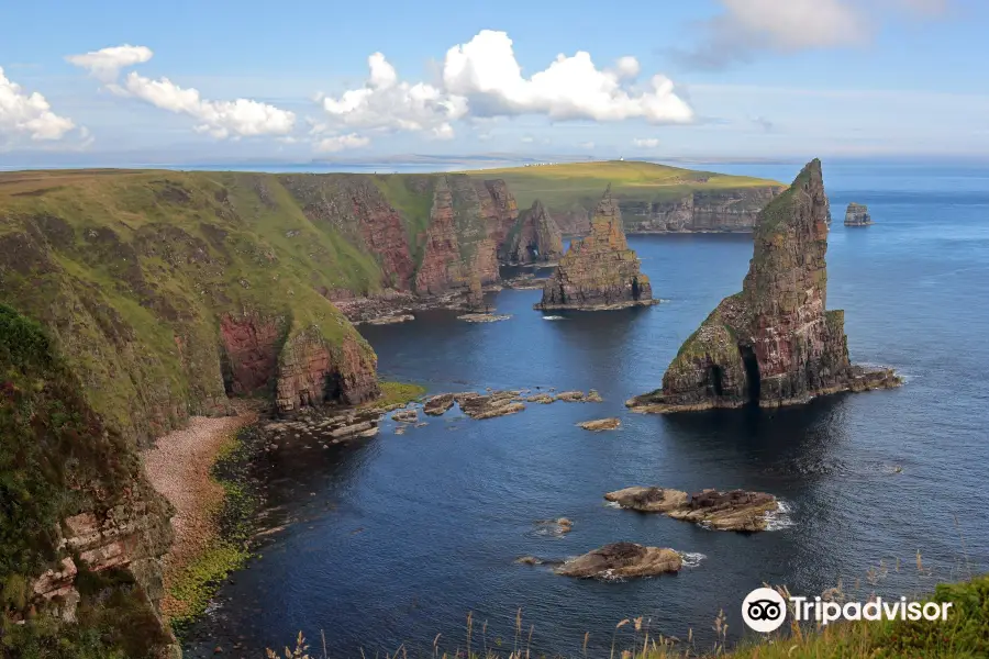
<svg viewBox="0 0 989 659">
<path fill-rule="evenodd" d="M 716 169 L 790 180 L 799 166 Z M 651 309 L 547 321 L 532 310 L 538 291 L 504 290 L 491 295 L 512 314 L 501 323 L 434 311 L 363 327 L 382 375 L 434 392 L 594 388 L 604 402 L 488 421 L 454 410 L 401 436 L 386 422 L 362 444 L 273 455 L 271 504 L 299 521 L 221 590 L 188 656 L 240 644 L 234 655 L 258 657 L 298 630 L 324 632 L 336 657 L 401 644 L 431 655 L 436 634 L 453 652 L 468 612 L 474 648 L 487 621 L 485 643 L 505 651 L 520 607 L 537 654 L 578 655 L 587 632 L 591 651 L 607 654 L 615 624 L 637 615 L 654 633 L 692 629 L 705 649 L 721 610 L 729 636 L 741 636 L 742 599 L 764 582 L 908 594 L 989 570 L 989 167 L 825 161 L 824 172 L 835 217 L 827 305 L 846 312 L 853 360 L 897 368 L 903 388 L 777 412 L 627 413 L 623 402 L 656 388 L 681 342 L 740 290 L 748 236 L 631 236 L 665 301 Z M 842 225 L 852 201 L 869 205 L 874 226 Z M 614 433 L 574 425 L 612 415 L 623 423 Z M 763 490 L 788 512 L 775 530 L 745 536 L 604 505 L 604 492 L 633 484 Z M 559 516 L 574 522 L 563 537 L 534 525 Z M 602 582 L 513 563 L 616 540 L 673 547 L 697 565 Z"/>
</svg>

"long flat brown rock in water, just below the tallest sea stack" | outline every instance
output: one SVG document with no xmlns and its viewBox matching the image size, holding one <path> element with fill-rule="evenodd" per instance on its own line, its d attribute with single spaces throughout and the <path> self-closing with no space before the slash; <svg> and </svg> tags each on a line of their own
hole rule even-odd
<svg viewBox="0 0 989 659">
<path fill-rule="evenodd" d="M 674 520 L 694 522 L 718 530 L 766 530 L 767 513 L 779 510 L 773 494 L 732 490 L 702 490 L 688 496 L 687 492 L 666 488 L 625 488 L 604 495 L 623 509 L 642 513 L 664 513 Z"/>
</svg>

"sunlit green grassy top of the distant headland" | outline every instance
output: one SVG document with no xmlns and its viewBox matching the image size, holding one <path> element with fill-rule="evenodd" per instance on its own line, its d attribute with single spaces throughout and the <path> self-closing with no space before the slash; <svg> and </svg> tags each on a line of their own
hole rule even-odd
<svg viewBox="0 0 989 659">
<path fill-rule="evenodd" d="M 503 179 L 514 193 L 519 208 L 529 208 L 540 199 L 551 212 L 565 212 L 575 205 L 593 208 L 609 183 L 621 203 L 675 201 L 700 191 L 785 187 L 768 179 L 696 171 L 636 160 L 565 163 L 484 169 L 467 174 Z"/>
</svg>

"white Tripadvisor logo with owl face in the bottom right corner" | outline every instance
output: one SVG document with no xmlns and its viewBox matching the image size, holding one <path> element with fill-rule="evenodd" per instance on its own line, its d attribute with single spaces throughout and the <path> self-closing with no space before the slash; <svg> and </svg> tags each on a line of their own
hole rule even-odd
<svg viewBox="0 0 989 659">
<path fill-rule="evenodd" d="M 908 602 L 907 597 L 886 601 L 876 597 L 862 602 L 824 602 L 821 597 L 790 596 L 789 606 L 798 623 L 814 621 L 822 625 L 836 621 L 946 621 L 953 602 Z M 742 619 L 763 634 L 779 629 L 787 619 L 787 601 L 771 588 L 757 588 L 742 602 Z"/>
</svg>

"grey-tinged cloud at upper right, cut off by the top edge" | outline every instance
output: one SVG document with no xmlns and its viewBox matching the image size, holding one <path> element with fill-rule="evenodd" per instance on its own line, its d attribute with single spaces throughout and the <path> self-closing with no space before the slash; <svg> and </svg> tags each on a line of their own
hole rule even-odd
<svg viewBox="0 0 989 659">
<path fill-rule="evenodd" d="M 943 14 L 951 0 L 718 0 L 723 11 L 701 24 L 692 65 L 718 68 L 760 51 L 793 53 L 868 43 L 878 24 L 901 14 Z"/>
</svg>

